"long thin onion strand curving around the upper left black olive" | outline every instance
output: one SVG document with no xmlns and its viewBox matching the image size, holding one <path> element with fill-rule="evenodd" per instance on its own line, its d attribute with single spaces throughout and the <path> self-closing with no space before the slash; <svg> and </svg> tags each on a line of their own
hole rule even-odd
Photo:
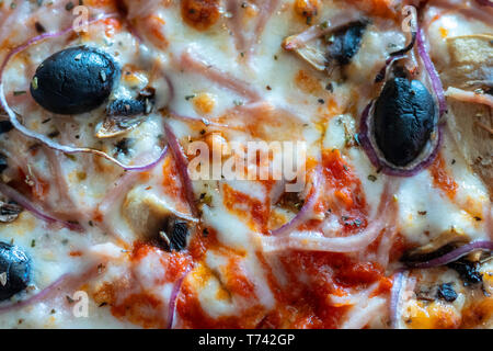
<svg viewBox="0 0 493 351">
<path fill-rule="evenodd" d="M 107 14 L 107 15 L 103 15 L 100 16 L 98 19 L 91 20 L 88 24 L 92 24 L 95 23 L 98 21 L 101 20 L 105 20 L 105 19 L 110 19 L 110 18 L 115 18 L 116 14 Z M 26 43 L 15 47 L 14 49 L 12 49 L 5 57 L 5 59 L 3 60 L 2 65 L 0 66 L 0 105 L 3 107 L 3 110 L 5 111 L 5 113 L 9 115 L 9 120 L 12 123 L 12 125 L 14 126 L 15 129 L 18 129 L 20 133 L 22 133 L 23 135 L 25 135 L 28 138 L 33 138 L 38 140 L 39 143 L 46 145 L 47 147 L 65 152 L 65 154 L 93 154 L 93 155 L 98 155 L 101 157 L 104 157 L 105 159 L 107 159 L 108 161 L 119 166 L 121 168 L 127 170 L 127 171 L 146 171 L 150 168 L 152 168 L 153 166 L 156 166 L 157 162 L 159 162 L 159 160 L 163 157 L 164 155 L 164 150 L 161 152 L 161 155 L 159 156 L 159 158 L 157 160 L 153 160 L 152 162 L 148 163 L 148 165 L 140 165 L 140 166 L 127 166 L 127 165 L 123 165 L 122 162 L 119 162 L 117 159 L 111 157 L 110 155 L 107 155 L 106 152 L 103 152 L 101 150 L 96 150 L 96 149 L 91 149 L 91 148 L 78 148 L 78 147 L 71 147 L 71 146 L 67 146 L 67 145 L 61 145 L 58 144 L 54 140 L 51 140 L 49 137 L 36 133 L 34 131 L 31 131 L 28 128 L 26 128 L 24 125 L 22 125 L 18 117 L 15 112 L 9 106 L 9 103 L 7 102 L 7 98 L 5 98 L 5 93 L 4 93 L 4 89 L 3 89 L 3 73 L 5 70 L 7 65 L 9 64 L 9 61 L 18 54 L 24 52 L 25 49 L 27 49 L 30 46 L 37 44 L 46 38 L 54 38 L 54 37 L 59 37 L 62 36 L 65 34 L 68 34 L 70 32 L 73 31 L 73 27 L 70 26 L 61 32 L 56 32 L 56 33 L 45 33 L 42 35 L 38 35 L 36 37 L 33 37 L 31 39 L 28 39 Z"/>
</svg>

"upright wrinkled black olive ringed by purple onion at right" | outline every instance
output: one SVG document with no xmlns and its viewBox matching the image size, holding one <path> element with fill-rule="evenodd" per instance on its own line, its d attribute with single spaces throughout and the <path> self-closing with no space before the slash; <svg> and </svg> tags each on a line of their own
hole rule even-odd
<svg viewBox="0 0 493 351">
<path fill-rule="evenodd" d="M 429 140 L 435 121 L 435 102 L 419 80 L 393 78 L 386 82 L 375 105 L 375 139 L 385 158 L 406 166 Z"/>
</svg>

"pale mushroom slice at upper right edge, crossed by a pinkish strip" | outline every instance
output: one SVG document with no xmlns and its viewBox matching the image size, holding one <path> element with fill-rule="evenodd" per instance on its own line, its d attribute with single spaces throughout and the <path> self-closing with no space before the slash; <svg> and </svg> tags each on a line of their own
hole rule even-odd
<svg viewBox="0 0 493 351">
<path fill-rule="evenodd" d="M 493 35 L 450 37 L 447 45 L 450 58 L 442 78 L 448 89 L 448 126 L 493 199 Z"/>
</svg>

